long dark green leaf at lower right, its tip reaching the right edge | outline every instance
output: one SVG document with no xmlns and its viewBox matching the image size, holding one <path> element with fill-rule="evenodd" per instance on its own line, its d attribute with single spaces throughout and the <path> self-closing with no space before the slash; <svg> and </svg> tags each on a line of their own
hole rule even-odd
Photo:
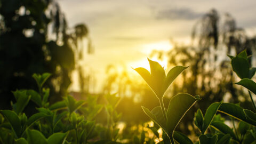
<svg viewBox="0 0 256 144">
<path fill-rule="evenodd" d="M 222 103 L 218 111 L 234 117 L 239 121 L 243 121 L 256 126 L 256 122 L 252 121 L 252 119 L 246 118 L 244 109 L 240 106 L 235 105 L 234 103 Z"/>
</svg>

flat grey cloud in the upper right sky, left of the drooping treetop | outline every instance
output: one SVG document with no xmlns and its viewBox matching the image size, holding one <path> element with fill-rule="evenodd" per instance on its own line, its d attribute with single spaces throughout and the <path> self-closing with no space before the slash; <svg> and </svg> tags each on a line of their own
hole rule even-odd
<svg viewBox="0 0 256 144">
<path fill-rule="evenodd" d="M 157 19 L 170 19 L 170 20 L 194 20 L 202 17 L 204 13 L 195 12 L 188 8 L 169 9 L 159 11 L 156 15 Z"/>
</svg>

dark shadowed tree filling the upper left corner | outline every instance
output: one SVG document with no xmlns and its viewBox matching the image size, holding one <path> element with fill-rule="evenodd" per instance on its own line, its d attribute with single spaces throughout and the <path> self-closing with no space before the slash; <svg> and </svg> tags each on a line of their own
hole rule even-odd
<svg viewBox="0 0 256 144">
<path fill-rule="evenodd" d="M 88 33 L 83 24 L 75 29 L 67 32 L 65 15 L 53 0 L 0 0 L 0 109 L 10 108 L 11 91 L 36 89 L 34 73 L 52 74 L 51 101 L 66 95 L 76 44 Z"/>
</svg>

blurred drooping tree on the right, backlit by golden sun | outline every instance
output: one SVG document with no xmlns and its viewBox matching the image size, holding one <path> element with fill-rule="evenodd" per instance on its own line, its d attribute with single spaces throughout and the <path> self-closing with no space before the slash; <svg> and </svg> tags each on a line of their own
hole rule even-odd
<svg viewBox="0 0 256 144">
<path fill-rule="evenodd" d="M 249 55 L 252 54 L 255 51 L 255 37 L 250 38 L 242 28 L 237 28 L 230 14 L 225 15 L 224 23 L 220 23 L 219 19 L 218 12 L 211 10 L 194 26 L 191 45 L 175 44 L 169 52 L 154 52 L 153 55 L 167 57 L 170 68 L 177 65 L 190 66 L 182 73 L 179 81 L 174 81 L 167 93 L 169 97 L 178 92 L 199 94 L 202 100 L 198 101 L 197 106 L 206 110 L 210 103 L 219 102 L 230 95 L 228 101 L 244 102 L 242 105 L 248 108 L 251 105 L 246 103 L 250 101 L 238 99 L 239 95 L 247 93 L 234 85 L 237 76 L 233 74 L 227 54 L 236 55 L 244 49 L 247 49 Z M 194 113 L 188 113 L 181 125 L 191 125 L 188 122 L 193 121 L 193 115 Z"/>
</svg>

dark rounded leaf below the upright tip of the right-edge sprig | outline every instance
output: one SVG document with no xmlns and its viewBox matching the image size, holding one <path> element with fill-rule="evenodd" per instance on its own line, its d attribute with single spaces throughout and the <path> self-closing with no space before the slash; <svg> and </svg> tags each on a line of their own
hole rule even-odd
<svg viewBox="0 0 256 144">
<path fill-rule="evenodd" d="M 240 77 L 241 79 L 249 78 L 250 65 L 247 59 L 235 57 L 231 60 L 231 65 L 238 77 Z"/>
</svg>

